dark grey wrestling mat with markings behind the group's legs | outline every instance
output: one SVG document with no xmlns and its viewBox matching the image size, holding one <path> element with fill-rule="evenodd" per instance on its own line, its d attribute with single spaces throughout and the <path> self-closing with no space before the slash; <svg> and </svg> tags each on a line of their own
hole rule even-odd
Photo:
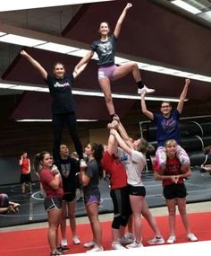
<svg viewBox="0 0 211 256">
<path fill-rule="evenodd" d="M 155 181 L 152 172 L 143 173 L 143 181 L 147 190 L 149 207 L 165 206 L 162 196 L 161 181 Z M 201 173 L 198 168 L 192 170 L 192 176 L 186 181 L 188 190 L 187 202 L 208 201 L 211 199 L 211 175 L 208 172 Z M 109 181 L 100 181 L 101 204 L 100 213 L 113 211 L 113 205 L 109 193 Z M 46 212 L 43 199 L 39 198 L 38 183 L 33 183 L 33 194 L 26 199 L 21 196 L 21 185 L 0 186 L 0 192 L 9 195 L 10 199 L 21 204 L 17 214 L 0 214 L 0 226 L 22 225 L 34 222 L 46 221 Z M 77 202 L 76 216 L 85 216 L 86 210 L 83 202 Z"/>
</svg>

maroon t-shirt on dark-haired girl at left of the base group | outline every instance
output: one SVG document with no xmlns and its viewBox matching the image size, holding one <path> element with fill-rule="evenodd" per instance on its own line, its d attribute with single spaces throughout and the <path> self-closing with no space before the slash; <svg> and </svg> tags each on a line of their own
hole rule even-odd
<svg viewBox="0 0 211 256">
<path fill-rule="evenodd" d="M 46 192 L 46 198 L 62 198 L 63 197 L 63 183 L 62 178 L 60 178 L 59 188 L 54 190 L 51 188 L 49 183 L 55 179 L 55 176 L 48 169 L 41 169 L 39 172 L 40 181 L 43 185 L 43 189 Z"/>
</svg>

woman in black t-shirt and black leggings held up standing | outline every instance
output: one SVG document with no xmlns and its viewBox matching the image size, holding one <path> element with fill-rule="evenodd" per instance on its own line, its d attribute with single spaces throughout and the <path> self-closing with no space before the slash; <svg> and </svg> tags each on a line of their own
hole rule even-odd
<svg viewBox="0 0 211 256">
<path fill-rule="evenodd" d="M 56 159 L 59 157 L 58 152 L 60 150 L 59 147 L 62 140 L 63 124 L 66 123 L 75 149 L 79 154 L 81 164 L 85 164 L 85 161 L 83 160 L 82 145 L 77 132 L 75 102 L 72 96 L 72 83 L 74 82 L 74 79 L 83 71 L 86 64 L 81 66 L 80 69 L 74 71 L 72 74 L 65 75 L 63 63 L 57 62 L 53 68 L 54 75 L 49 75 L 47 74 L 46 69 L 25 50 L 21 50 L 21 56 L 26 57 L 30 61 L 30 64 L 38 69 L 38 72 L 42 75 L 46 81 L 46 84 L 48 84 L 49 91 L 53 99 L 52 122 L 54 132 L 54 160 L 56 161 Z"/>
</svg>

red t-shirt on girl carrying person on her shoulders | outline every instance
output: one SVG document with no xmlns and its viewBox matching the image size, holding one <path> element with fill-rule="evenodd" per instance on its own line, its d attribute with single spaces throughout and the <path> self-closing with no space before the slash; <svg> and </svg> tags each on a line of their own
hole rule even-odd
<svg viewBox="0 0 211 256">
<path fill-rule="evenodd" d="M 162 175 L 172 176 L 172 175 L 179 175 L 181 174 L 181 163 L 178 158 L 169 159 L 167 157 L 165 172 Z M 183 178 L 179 178 L 177 184 L 184 183 Z M 163 186 L 174 184 L 171 179 L 163 180 Z"/>
</svg>

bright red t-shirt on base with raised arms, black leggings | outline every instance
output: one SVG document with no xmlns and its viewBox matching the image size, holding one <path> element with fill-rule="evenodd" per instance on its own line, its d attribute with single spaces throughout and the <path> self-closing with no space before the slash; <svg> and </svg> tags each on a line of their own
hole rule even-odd
<svg viewBox="0 0 211 256">
<path fill-rule="evenodd" d="M 110 155 L 106 151 L 101 163 L 105 172 L 110 174 L 111 190 L 127 186 L 126 170 L 120 159 L 115 154 Z"/>
</svg>

